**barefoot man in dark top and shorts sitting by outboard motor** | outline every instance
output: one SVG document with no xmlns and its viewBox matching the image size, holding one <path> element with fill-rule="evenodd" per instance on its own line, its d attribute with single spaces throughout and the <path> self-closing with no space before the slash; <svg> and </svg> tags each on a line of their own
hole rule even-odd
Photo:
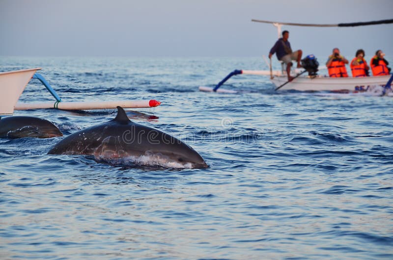
<svg viewBox="0 0 393 260">
<path fill-rule="evenodd" d="M 302 58 L 302 50 L 297 50 L 296 52 L 292 52 L 291 44 L 288 41 L 289 31 L 282 32 L 282 38 L 278 39 L 276 44 L 272 47 L 269 52 L 269 59 L 272 58 L 272 55 L 276 53 L 277 59 L 281 60 L 286 64 L 286 74 L 288 75 L 288 81 L 292 81 L 293 77 L 290 76 L 292 60 L 296 60 L 298 68 L 301 68 L 300 59 Z"/>
</svg>

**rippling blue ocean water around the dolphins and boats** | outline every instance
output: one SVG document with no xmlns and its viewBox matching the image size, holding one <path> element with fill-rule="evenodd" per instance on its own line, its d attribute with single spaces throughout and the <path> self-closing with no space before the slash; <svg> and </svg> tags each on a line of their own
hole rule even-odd
<svg viewBox="0 0 393 260">
<path fill-rule="evenodd" d="M 0 139 L 0 259 L 393 259 L 393 99 L 275 93 L 254 58 L 0 57 L 63 101 L 156 99 L 131 120 L 208 169 L 47 155 L 63 137 Z M 21 102 L 52 101 L 32 79 Z M 16 111 L 68 135 L 115 110 Z"/>
</svg>

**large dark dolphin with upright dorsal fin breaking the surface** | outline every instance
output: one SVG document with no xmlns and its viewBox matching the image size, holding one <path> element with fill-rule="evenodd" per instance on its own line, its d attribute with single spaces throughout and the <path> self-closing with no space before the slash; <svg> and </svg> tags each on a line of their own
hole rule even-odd
<svg viewBox="0 0 393 260">
<path fill-rule="evenodd" d="M 48 152 L 51 155 L 87 155 L 112 164 L 168 168 L 207 168 L 203 158 L 189 145 L 157 130 L 130 121 L 117 106 L 111 121 L 72 133 Z"/>
</svg>

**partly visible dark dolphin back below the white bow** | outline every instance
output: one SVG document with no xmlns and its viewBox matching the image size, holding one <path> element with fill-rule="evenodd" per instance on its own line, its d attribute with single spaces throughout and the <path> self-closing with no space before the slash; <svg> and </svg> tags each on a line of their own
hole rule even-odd
<svg viewBox="0 0 393 260">
<path fill-rule="evenodd" d="M 54 124 L 38 117 L 7 116 L 0 118 L 0 137 L 3 138 L 51 138 L 62 135 Z"/>
</svg>

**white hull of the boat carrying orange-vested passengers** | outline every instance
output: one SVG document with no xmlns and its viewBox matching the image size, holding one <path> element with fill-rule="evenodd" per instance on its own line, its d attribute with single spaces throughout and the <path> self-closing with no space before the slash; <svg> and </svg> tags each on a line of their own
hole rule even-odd
<svg viewBox="0 0 393 260">
<path fill-rule="evenodd" d="M 362 78 L 298 77 L 278 90 L 359 92 L 367 91 L 372 86 L 385 86 L 390 77 L 391 75 Z M 286 76 L 279 76 L 271 80 L 276 87 L 279 87 L 288 78 Z"/>
</svg>

